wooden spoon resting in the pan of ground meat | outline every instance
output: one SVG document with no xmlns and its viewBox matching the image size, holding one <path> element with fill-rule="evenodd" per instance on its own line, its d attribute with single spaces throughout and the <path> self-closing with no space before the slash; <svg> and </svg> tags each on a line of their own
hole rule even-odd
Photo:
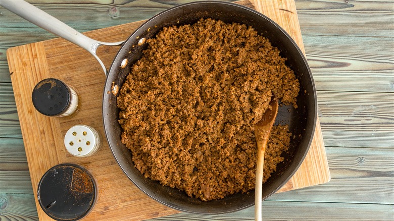
<svg viewBox="0 0 394 221">
<path fill-rule="evenodd" d="M 271 128 L 274 125 L 276 115 L 278 114 L 278 99 L 273 92 L 270 105 L 272 108 L 267 109 L 261 120 L 255 124 L 255 137 L 258 149 L 255 189 L 255 220 L 259 221 L 261 221 L 264 153 L 268 138 L 270 136 Z"/>
</svg>

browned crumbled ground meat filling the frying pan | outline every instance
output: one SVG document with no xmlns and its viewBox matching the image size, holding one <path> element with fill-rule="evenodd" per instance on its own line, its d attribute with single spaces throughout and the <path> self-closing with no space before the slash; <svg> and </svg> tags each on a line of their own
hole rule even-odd
<svg viewBox="0 0 394 221">
<path fill-rule="evenodd" d="M 296 106 L 286 59 L 252 27 L 212 19 L 166 27 L 146 43 L 117 99 L 135 167 L 204 201 L 254 189 L 255 123 L 272 91 Z M 273 128 L 264 181 L 289 142 L 286 126 Z"/>
</svg>

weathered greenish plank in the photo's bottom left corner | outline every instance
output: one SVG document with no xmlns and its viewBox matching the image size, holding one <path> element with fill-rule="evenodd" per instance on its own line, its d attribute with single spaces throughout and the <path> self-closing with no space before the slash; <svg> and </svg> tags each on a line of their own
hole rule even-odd
<svg viewBox="0 0 394 221">
<path fill-rule="evenodd" d="M 0 193 L 0 218 L 3 220 L 38 220 L 33 194 Z"/>
</svg>

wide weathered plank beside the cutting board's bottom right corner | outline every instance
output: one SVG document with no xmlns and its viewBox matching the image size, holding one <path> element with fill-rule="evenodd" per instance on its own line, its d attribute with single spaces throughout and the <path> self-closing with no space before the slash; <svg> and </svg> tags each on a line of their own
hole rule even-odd
<svg viewBox="0 0 394 221">
<path fill-rule="evenodd" d="M 274 194 L 268 200 L 394 204 L 394 153 L 388 148 L 326 147 L 327 184 Z"/>
</svg>

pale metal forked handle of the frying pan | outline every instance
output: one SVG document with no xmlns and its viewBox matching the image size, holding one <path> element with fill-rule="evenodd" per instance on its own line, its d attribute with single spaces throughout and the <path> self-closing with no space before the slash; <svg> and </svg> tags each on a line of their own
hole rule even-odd
<svg viewBox="0 0 394 221">
<path fill-rule="evenodd" d="M 11 12 L 17 14 L 18 16 L 26 19 L 27 21 L 41 27 L 49 32 L 52 32 L 58 35 L 61 38 L 64 38 L 83 49 L 89 51 L 94 58 L 102 66 L 105 75 L 107 75 L 107 68 L 104 66 L 103 62 L 100 58 L 96 55 L 96 49 L 100 45 L 121 45 L 124 41 L 113 42 L 113 43 L 106 43 L 102 41 L 96 41 L 85 35 L 79 33 L 78 31 L 74 30 L 70 26 L 64 24 L 63 22 L 59 21 L 55 17 L 47 14 L 46 12 L 30 5 L 29 3 L 22 1 L 22 0 L 1 0 L 0 6 L 10 10 Z"/>
</svg>

